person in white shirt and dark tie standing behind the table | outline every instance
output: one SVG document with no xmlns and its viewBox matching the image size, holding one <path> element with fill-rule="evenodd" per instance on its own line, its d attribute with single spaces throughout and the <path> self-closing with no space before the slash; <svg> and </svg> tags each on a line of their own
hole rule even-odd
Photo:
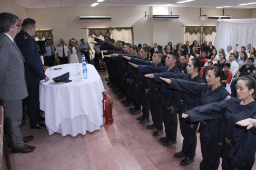
<svg viewBox="0 0 256 170">
<path fill-rule="evenodd" d="M 67 52 L 69 52 L 69 50 L 63 38 L 60 39 L 60 42 L 61 43 L 56 46 L 55 54 L 57 55 L 57 59 L 60 60 L 60 65 L 64 65 L 68 63 Z"/>
</svg>

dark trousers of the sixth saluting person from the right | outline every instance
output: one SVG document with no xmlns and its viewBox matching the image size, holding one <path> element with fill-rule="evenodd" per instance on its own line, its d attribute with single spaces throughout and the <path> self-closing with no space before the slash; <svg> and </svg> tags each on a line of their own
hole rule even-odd
<svg viewBox="0 0 256 170">
<path fill-rule="evenodd" d="M 147 81 L 141 81 L 140 87 L 139 87 L 139 95 L 140 95 L 140 101 L 142 105 L 142 115 L 144 118 L 149 118 L 149 111 L 150 111 L 150 104 L 149 104 L 149 97 L 146 93 L 146 84 Z"/>
</svg>

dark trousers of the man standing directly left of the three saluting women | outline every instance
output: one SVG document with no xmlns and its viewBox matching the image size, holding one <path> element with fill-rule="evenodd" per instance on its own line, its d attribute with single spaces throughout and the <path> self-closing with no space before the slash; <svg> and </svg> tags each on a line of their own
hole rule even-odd
<svg viewBox="0 0 256 170">
<path fill-rule="evenodd" d="M 163 96 L 161 101 L 162 119 L 165 127 L 165 134 L 171 141 L 176 141 L 177 138 L 177 113 L 171 113 L 171 109 L 167 109 L 172 106 L 173 98 L 171 96 Z"/>
</svg>

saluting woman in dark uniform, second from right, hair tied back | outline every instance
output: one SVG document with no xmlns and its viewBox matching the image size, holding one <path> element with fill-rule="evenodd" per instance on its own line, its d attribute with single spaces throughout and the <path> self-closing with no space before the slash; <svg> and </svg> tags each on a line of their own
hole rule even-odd
<svg viewBox="0 0 256 170">
<path fill-rule="evenodd" d="M 205 105 L 231 98 L 229 92 L 221 84 L 223 77 L 224 72 L 220 67 L 211 67 L 206 77 L 207 84 L 174 78 L 160 79 L 167 82 L 169 88 L 199 94 L 200 105 Z M 211 114 L 217 113 L 212 111 Z M 219 167 L 222 143 L 224 142 L 221 131 L 222 122 L 223 119 L 201 121 L 199 132 L 203 160 L 200 163 L 200 169 L 218 169 Z"/>
</svg>

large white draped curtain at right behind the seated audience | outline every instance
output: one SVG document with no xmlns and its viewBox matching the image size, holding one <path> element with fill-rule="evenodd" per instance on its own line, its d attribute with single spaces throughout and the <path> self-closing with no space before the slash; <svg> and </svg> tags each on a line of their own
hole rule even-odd
<svg viewBox="0 0 256 170">
<path fill-rule="evenodd" d="M 256 18 L 252 19 L 220 19 L 218 20 L 218 29 L 215 36 L 215 47 L 217 49 L 227 48 L 231 45 L 234 47 L 238 44 L 247 47 L 251 44 L 256 46 Z"/>
</svg>

